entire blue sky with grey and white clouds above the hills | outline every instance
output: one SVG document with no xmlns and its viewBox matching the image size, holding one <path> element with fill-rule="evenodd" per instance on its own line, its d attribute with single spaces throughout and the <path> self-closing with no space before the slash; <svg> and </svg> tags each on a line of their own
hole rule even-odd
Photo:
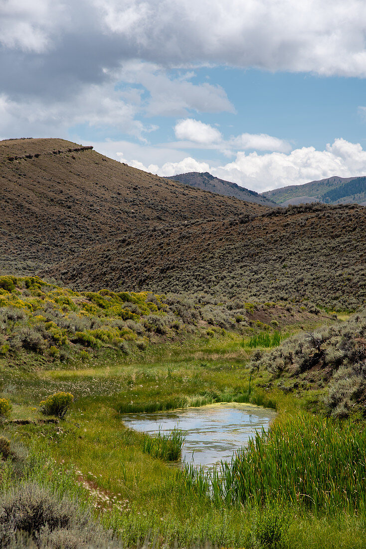
<svg viewBox="0 0 366 549">
<path fill-rule="evenodd" d="M 364 0 L 0 0 L 0 138 L 258 192 L 366 174 Z"/>
</svg>

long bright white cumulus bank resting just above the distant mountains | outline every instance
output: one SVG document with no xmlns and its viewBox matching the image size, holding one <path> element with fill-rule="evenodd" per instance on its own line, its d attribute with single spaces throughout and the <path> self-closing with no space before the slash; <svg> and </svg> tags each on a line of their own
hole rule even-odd
<svg viewBox="0 0 366 549">
<path fill-rule="evenodd" d="M 96 145 L 97 150 L 98 144 Z M 263 192 L 287 185 L 307 183 L 331 176 L 351 177 L 366 175 L 366 150 L 359 143 L 350 143 L 342 138 L 326 145 L 324 150 L 314 147 L 302 147 L 291 153 L 258 154 L 239 151 L 233 162 L 218 166 L 208 161 L 198 161 L 191 156 L 165 162 L 168 149 L 134 148 L 128 150 L 124 144 L 117 145 L 115 158 L 120 158 L 117 148 L 123 148 L 123 161 L 145 171 L 161 176 L 173 176 L 189 171 L 210 172 L 212 175 L 226 181 Z M 112 150 L 109 150 L 112 153 Z M 177 152 L 174 152 L 177 154 Z M 182 153 L 179 151 L 179 153 Z M 179 154 L 178 153 L 178 154 Z M 112 153 L 113 154 L 113 153 Z M 148 154 L 144 158 L 144 155 Z M 139 160 L 132 160 L 139 158 Z M 149 160 L 160 158 L 157 165 Z"/>
</svg>

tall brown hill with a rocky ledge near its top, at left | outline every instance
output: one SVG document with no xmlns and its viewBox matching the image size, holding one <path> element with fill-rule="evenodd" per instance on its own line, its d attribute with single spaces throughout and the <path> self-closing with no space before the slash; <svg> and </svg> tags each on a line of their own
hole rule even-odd
<svg viewBox="0 0 366 549">
<path fill-rule="evenodd" d="M 134 229 L 254 214 L 63 139 L 0 142 L 0 268 L 32 274 Z"/>
</svg>

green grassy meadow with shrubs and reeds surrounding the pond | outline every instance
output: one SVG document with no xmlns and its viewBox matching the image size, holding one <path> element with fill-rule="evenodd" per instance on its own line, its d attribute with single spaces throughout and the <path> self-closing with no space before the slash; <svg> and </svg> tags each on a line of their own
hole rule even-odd
<svg viewBox="0 0 366 549">
<path fill-rule="evenodd" d="M 33 281 L 0 296 L 2 546 L 365 546 L 364 316 Z M 120 418 L 215 402 L 277 418 L 209 472 L 174 466 L 184 433 Z"/>
</svg>

